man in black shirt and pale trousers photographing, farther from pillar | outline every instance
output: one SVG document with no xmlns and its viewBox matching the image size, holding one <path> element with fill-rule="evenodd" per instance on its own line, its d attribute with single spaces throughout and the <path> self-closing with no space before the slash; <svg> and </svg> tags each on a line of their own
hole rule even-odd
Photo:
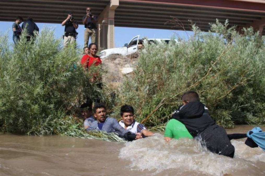
<svg viewBox="0 0 265 176">
<path fill-rule="evenodd" d="M 68 13 L 67 18 L 62 22 L 62 26 L 64 28 L 64 47 L 67 47 L 68 43 L 72 43 L 76 41 L 78 24 L 76 20 L 74 20 L 73 14 Z"/>
</svg>

